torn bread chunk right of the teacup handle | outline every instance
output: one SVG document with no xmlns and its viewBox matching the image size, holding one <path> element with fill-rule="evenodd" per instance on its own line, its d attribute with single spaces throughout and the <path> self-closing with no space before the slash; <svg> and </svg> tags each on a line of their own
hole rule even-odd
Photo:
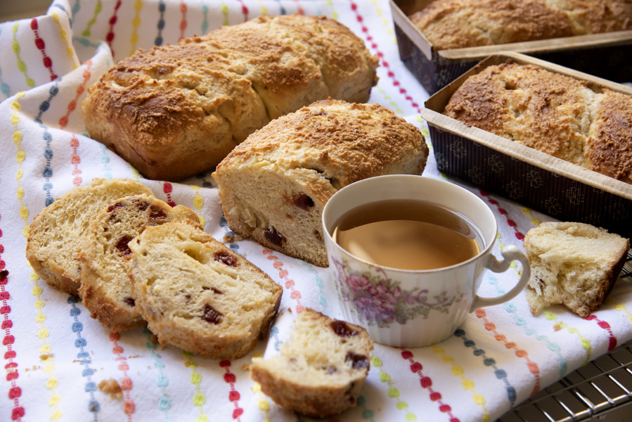
<svg viewBox="0 0 632 422">
<path fill-rule="evenodd" d="M 599 309 L 626 262 L 627 239 L 590 224 L 546 222 L 524 236 L 531 313 L 564 305 L 582 318 Z"/>
</svg>

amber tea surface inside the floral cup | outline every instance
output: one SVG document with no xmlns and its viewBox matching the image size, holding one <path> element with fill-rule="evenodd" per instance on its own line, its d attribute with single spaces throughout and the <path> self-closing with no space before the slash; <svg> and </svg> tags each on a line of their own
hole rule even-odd
<svg viewBox="0 0 632 422">
<path fill-rule="evenodd" d="M 466 217 L 422 200 L 382 200 L 356 207 L 339 220 L 333 239 L 365 261 L 411 270 L 470 260 L 483 244 Z"/>
</svg>

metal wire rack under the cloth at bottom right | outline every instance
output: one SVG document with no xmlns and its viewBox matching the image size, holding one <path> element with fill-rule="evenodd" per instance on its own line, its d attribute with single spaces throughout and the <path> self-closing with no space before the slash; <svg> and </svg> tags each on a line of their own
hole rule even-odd
<svg viewBox="0 0 632 422">
<path fill-rule="evenodd" d="M 632 282 L 632 255 L 619 276 Z M 503 415 L 498 422 L 603 420 L 632 404 L 632 341 L 569 373 Z M 629 419 L 632 421 L 632 407 Z"/>
</svg>

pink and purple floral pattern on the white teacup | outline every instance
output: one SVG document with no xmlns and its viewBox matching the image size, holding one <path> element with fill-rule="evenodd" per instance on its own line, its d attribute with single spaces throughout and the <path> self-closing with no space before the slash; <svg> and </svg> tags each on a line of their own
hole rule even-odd
<svg viewBox="0 0 632 422">
<path fill-rule="evenodd" d="M 334 262 L 340 281 L 344 283 L 337 283 L 341 300 L 352 302 L 351 308 L 369 326 L 387 328 L 394 323 L 406 324 L 418 316 L 427 319 L 431 310 L 447 314 L 453 303 L 463 300 L 463 293 L 449 297 L 447 292 L 428 298 L 427 289 L 404 290 L 399 281 L 389 279 L 381 268 L 375 268 L 376 274 L 370 274 L 353 271 L 345 260 Z"/>
</svg>

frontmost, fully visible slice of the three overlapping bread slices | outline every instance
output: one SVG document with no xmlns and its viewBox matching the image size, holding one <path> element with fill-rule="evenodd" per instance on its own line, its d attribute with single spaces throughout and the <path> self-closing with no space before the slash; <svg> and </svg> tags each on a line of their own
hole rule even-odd
<svg viewBox="0 0 632 422">
<path fill-rule="evenodd" d="M 129 248 L 131 294 L 161 344 L 237 359 L 267 334 L 283 288 L 205 231 L 169 222 Z"/>
</svg>

